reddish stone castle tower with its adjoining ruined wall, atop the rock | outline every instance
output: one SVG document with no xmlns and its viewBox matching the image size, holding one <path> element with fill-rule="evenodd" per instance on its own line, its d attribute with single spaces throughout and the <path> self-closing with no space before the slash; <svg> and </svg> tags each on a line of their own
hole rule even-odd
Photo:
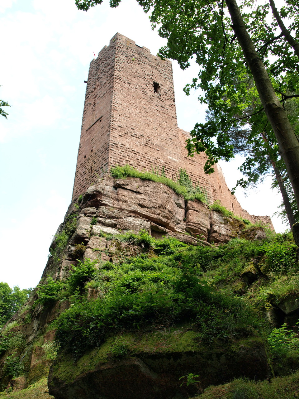
<svg viewBox="0 0 299 399">
<path fill-rule="evenodd" d="M 205 155 L 187 157 L 188 135 L 177 127 L 171 61 L 117 33 L 90 63 L 73 199 L 110 166 L 147 171 L 159 166 L 174 180 L 184 168 L 210 201 L 220 199 L 242 215 L 221 168 L 215 165 L 215 172 L 205 175 Z"/>
</svg>

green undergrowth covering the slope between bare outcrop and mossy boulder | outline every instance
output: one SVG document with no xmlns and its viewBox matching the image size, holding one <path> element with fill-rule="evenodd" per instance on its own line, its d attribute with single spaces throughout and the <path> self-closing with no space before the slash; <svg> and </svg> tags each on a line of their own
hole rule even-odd
<svg viewBox="0 0 299 399">
<path fill-rule="evenodd" d="M 173 323 L 191 322 L 207 342 L 261 334 L 265 325 L 254 308 L 262 312 L 290 293 L 299 294 L 290 234 L 269 235 L 265 241 L 235 239 L 219 247 L 158 240 L 146 231 L 113 238 L 142 245 L 144 253 L 118 263 L 102 261 L 97 269 L 87 259 L 59 283 L 58 297 L 70 298 L 72 306 L 55 321 L 56 337 L 75 358 L 113 332 L 151 331 Z M 240 275 L 253 264 L 263 273 L 258 284 L 247 286 Z M 292 284 L 281 284 L 288 276 Z M 86 300 L 88 288 L 97 292 L 95 299 Z"/>
</svg>

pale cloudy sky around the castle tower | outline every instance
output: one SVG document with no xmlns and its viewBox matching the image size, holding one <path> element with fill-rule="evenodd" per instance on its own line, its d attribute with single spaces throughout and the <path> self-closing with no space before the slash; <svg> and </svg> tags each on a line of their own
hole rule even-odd
<svg viewBox="0 0 299 399">
<path fill-rule="evenodd" d="M 20 288 L 36 286 L 51 239 L 71 201 L 89 63 L 116 32 L 156 54 L 164 41 L 151 30 L 135 0 L 116 9 L 108 1 L 78 11 L 75 0 L 6 0 L 2 27 L 0 99 L 12 105 L 0 118 L 1 269 L 0 281 Z M 178 125 L 190 131 L 205 120 L 197 95 L 184 85 L 196 67 L 181 71 L 173 63 Z M 239 160 L 240 162 L 240 160 Z M 229 188 L 240 175 L 238 162 L 222 163 Z M 273 215 L 281 202 L 267 185 L 244 196 L 242 207 Z M 273 218 L 276 231 L 287 226 Z"/>
</svg>

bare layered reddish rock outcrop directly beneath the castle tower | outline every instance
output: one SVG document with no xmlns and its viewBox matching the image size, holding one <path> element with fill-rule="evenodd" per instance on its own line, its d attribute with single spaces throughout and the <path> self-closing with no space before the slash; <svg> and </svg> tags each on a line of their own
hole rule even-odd
<svg viewBox="0 0 299 399">
<path fill-rule="evenodd" d="M 145 229 L 156 238 L 189 233 L 203 242 L 227 243 L 245 227 L 240 220 L 209 211 L 209 207 L 198 200 L 187 201 L 185 206 L 183 197 L 171 188 L 138 178 L 114 180 L 105 176 L 87 190 L 84 201 L 84 213 L 91 217 L 96 212 L 97 224 L 92 226 L 91 234 L 100 234 L 100 230 L 117 234 L 116 229 L 136 232 Z M 79 234 L 83 234 L 80 227 Z M 88 233 L 90 226 L 83 227 Z M 264 238 L 260 228 L 250 234 L 254 236 L 249 239 Z"/>
</svg>

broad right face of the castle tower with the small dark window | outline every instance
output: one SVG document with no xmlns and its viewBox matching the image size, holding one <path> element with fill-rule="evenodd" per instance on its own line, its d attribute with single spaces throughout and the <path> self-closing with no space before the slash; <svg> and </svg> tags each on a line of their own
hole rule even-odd
<svg viewBox="0 0 299 399">
<path fill-rule="evenodd" d="M 167 177 L 176 178 L 180 142 L 171 62 L 124 36 L 117 41 L 110 163 L 164 166 Z"/>
</svg>

